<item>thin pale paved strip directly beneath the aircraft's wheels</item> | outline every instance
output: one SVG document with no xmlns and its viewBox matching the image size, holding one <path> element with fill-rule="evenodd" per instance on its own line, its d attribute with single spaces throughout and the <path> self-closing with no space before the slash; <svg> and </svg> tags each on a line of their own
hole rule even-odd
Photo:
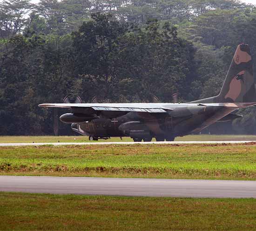
<svg viewBox="0 0 256 231">
<path fill-rule="evenodd" d="M 39 145 L 109 145 L 109 144 L 241 144 L 256 141 L 159 141 L 159 142 L 68 142 L 68 143 L 0 143 L 1 146 L 39 146 Z"/>
</svg>

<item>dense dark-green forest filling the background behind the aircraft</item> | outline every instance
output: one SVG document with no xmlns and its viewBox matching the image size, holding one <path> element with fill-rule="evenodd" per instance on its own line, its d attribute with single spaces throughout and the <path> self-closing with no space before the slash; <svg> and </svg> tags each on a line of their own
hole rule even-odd
<svg viewBox="0 0 256 231">
<path fill-rule="evenodd" d="M 65 96 L 83 102 L 214 96 L 238 44 L 250 45 L 256 64 L 255 34 L 256 6 L 236 0 L 4 0 L 0 135 L 53 134 L 54 111 L 37 105 Z M 206 132 L 256 134 L 256 109 L 238 113 L 242 119 Z M 70 127 L 61 124 L 60 134 L 71 134 Z"/>
</svg>

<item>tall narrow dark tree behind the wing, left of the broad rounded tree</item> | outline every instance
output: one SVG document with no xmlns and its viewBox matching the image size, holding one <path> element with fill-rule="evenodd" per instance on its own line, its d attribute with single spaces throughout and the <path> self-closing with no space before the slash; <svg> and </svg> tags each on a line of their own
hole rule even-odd
<svg viewBox="0 0 256 231">
<path fill-rule="evenodd" d="M 98 95 L 103 99 L 114 99 L 118 83 L 116 46 L 119 36 L 125 32 L 125 25 L 111 14 L 96 13 L 91 17 L 93 20 L 84 22 L 73 33 L 76 77 L 84 78 L 85 98 Z"/>
</svg>

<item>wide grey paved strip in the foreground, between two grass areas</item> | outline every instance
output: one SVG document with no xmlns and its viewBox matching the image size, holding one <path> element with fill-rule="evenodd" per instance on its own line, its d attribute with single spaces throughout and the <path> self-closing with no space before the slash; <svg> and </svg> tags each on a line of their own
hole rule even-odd
<svg viewBox="0 0 256 231">
<path fill-rule="evenodd" d="M 256 198 L 256 181 L 0 176 L 0 191 L 155 197 Z"/>
</svg>

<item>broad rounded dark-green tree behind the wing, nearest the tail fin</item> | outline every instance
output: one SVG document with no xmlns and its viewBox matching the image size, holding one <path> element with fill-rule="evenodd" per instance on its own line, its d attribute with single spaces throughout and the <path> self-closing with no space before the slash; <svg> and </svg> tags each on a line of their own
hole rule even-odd
<svg viewBox="0 0 256 231">
<path fill-rule="evenodd" d="M 129 100 L 158 96 L 171 101 L 171 94 L 186 91 L 194 78 L 193 46 L 177 37 L 169 23 L 149 21 L 144 28 L 126 33 L 120 41 L 121 78 L 128 83 L 125 91 Z"/>
</svg>

